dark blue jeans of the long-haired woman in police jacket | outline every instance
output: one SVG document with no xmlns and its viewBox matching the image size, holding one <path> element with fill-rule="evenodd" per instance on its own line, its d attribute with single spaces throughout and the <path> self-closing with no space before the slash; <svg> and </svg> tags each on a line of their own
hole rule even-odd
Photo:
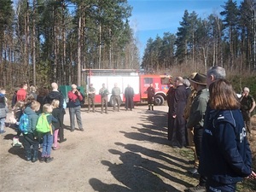
<svg viewBox="0 0 256 192">
<path fill-rule="evenodd" d="M 236 192 L 236 183 L 224 184 L 207 179 L 207 192 Z"/>
</svg>

